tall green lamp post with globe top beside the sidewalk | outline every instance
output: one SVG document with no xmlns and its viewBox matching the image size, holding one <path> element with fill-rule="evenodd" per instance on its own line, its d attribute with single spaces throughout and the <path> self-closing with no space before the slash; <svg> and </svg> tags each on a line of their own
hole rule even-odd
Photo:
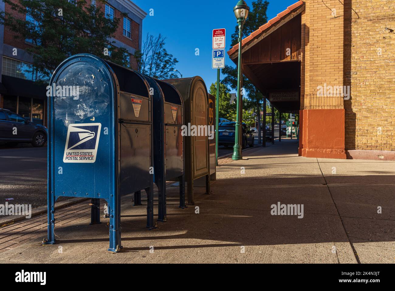
<svg viewBox="0 0 395 291">
<path fill-rule="evenodd" d="M 237 60 L 237 109 L 236 109 L 236 125 L 235 125 L 235 145 L 233 146 L 232 160 L 241 160 L 243 155 L 241 153 L 241 137 L 243 136 L 243 130 L 241 128 L 241 108 L 243 100 L 240 97 L 241 91 L 241 39 L 243 36 L 243 25 L 248 17 L 250 8 L 246 2 L 240 0 L 237 2 L 235 8 L 233 8 L 239 25 L 239 59 Z"/>
</svg>

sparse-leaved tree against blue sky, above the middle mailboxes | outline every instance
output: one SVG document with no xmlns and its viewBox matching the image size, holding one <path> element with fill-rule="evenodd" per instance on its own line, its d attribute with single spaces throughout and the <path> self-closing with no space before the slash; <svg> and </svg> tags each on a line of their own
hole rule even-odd
<svg viewBox="0 0 395 291">
<path fill-rule="evenodd" d="M 161 34 L 154 37 L 147 33 L 142 50 L 136 51 L 134 54 L 140 73 L 156 79 L 177 78 L 174 70 L 178 60 L 173 58 L 173 55 L 167 53 L 165 40 L 166 37 Z"/>
</svg>

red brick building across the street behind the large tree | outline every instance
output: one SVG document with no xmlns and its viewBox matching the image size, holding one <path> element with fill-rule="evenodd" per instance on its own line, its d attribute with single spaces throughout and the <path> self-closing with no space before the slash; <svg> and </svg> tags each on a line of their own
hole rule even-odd
<svg viewBox="0 0 395 291">
<path fill-rule="evenodd" d="M 114 38 L 110 38 L 109 42 L 115 42 L 112 45 L 116 47 L 125 48 L 129 53 L 130 67 L 137 69 L 133 54 L 136 50 L 141 50 L 142 25 L 147 13 L 130 0 L 108 0 L 105 4 L 87 0 L 87 3 L 100 5 L 106 17 L 121 19 Z M 1 0 L 0 10 L 13 13 L 20 19 L 29 17 L 12 10 Z M 127 17 L 121 13 L 126 13 Z M 0 108 L 9 109 L 30 121 L 46 125 L 46 86 L 38 85 L 35 82 L 37 76 L 27 72 L 32 67 L 33 57 L 26 52 L 26 48 L 33 44 L 31 40 L 14 36 L 15 33 L 6 25 L 0 26 Z M 17 55 L 13 54 L 15 48 Z"/>
</svg>

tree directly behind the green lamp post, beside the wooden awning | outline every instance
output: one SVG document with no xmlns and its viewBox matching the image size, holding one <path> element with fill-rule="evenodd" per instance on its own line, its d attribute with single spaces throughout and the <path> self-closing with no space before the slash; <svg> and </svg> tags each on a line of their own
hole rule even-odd
<svg viewBox="0 0 395 291">
<path fill-rule="evenodd" d="M 259 26 L 263 25 L 267 22 L 267 6 L 269 2 L 263 0 L 256 0 L 252 2 L 252 8 L 248 13 L 248 18 L 246 23 L 243 26 L 243 34 L 248 35 L 251 32 L 254 32 Z M 237 44 L 239 42 L 239 26 L 235 26 L 235 33 L 231 36 L 231 46 Z M 226 75 L 223 80 L 223 83 L 229 86 L 232 89 L 237 90 L 237 68 L 232 66 L 225 66 L 222 69 L 222 74 Z M 263 94 L 254 86 L 252 83 L 243 76 L 242 82 L 243 92 L 245 92 L 246 97 L 248 99 L 248 104 L 245 104 L 243 101 L 243 119 L 247 116 L 246 111 L 253 109 L 256 112 L 256 116 L 258 119 L 258 143 L 261 143 L 261 115 L 260 111 L 262 108 L 263 102 Z M 244 100 L 244 98 L 243 98 Z M 246 106 L 247 105 L 247 106 Z"/>
</svg>

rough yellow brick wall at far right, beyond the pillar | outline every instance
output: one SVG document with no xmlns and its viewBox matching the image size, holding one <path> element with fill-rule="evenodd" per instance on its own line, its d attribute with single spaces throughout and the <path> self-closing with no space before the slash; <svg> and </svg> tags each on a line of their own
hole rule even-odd
<svg viewBox="0 0 395 291">
<path fill-rule="evenodd" d="M 395 151 L 395 0 L 344 7 L 346 149 Z"/>
</svg>

